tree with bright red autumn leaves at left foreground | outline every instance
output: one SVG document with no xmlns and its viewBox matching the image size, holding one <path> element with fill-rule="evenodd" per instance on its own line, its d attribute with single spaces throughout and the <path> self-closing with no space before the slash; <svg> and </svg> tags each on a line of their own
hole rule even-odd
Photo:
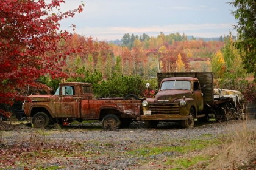
<svg viewBox="0 0 256 170">
<path fill-rule="evenodd" d="M 62 0 L 1 0 L 0 5 L 0 103 L 12 104 L 22 94 L 17 89 L 38 86 L 35 81 L 46 73 L 63 77 L 62 66 L 69 49 L 61 41 L 70 33 L 59 31 L 59 21 L 82 12 L 82 6 L 68 12 L 52 13 Z M 82 4 L 84 5 L 84 4 Z M 75 25 L 73 25 L 74 29 Z"/>
</svg>

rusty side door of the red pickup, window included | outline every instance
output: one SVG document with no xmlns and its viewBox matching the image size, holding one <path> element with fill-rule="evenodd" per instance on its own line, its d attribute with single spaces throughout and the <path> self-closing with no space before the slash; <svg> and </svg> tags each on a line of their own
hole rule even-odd
<svg viewBox="0 0 256 170">
<path fill-rule="evenodd" d="M 59 99 L 59 118 L 80 118 L 79 97 L 74 86 L 62 86 Z"/>
</svg>

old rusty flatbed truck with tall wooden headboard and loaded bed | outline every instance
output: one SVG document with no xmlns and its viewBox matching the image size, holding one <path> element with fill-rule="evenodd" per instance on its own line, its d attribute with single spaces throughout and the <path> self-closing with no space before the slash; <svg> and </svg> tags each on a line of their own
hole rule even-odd
<svg viewBox="0 0 256 170">
<path fill-rule="evenodd" d="M 142 103 L 139 120 L 148 128 L 159 121 L 179 121 L 183 128 L 194 126 L 195 119 L 229 121 L 243 115 L 244 97 L 241 92 L 213 88 L 212 72 L 158 73 L 155 98 Z"/>
</svg>

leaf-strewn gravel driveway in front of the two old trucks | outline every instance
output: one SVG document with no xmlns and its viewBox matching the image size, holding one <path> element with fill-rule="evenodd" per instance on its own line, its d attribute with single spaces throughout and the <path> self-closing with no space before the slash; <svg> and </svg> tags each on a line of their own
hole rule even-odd
<svg viewBox="0 0 256 170">
<path fill-rule="evenodd" d="M 179 146 L 180 141 L 183 140 L 216 138 L 221 134 L 230 134 L 244 126 L 249 129 L 256 129 L 256 120 L 196 123 L 196 126 L 191 129 L 181 129 L 179 123 L 160 123 L 157 129 L 146 129 L 141 121 L 133 121 L 127 129 L 113 131 L 102 129 L 101 122 L 71 125 L 60 130 L 52 127 L 51 129 L 44 129 L 47 135 L 37 135 L 37 138 L 44 141 L 54 141 L 55 143 L 82 143 L 84 152 L 93 156 L 71 157 L 69 160 L 56 158 L 51 160 L 51 164 L 46 161 L 38 167 L 59 166 L 60 169 L 169 169 L 168 166 L 155 167 L 151 163 L 155 165 L 157 162 L 165 161 L 166 157 L 179 157 L 180 155 L 175 152 L 162 152 L 146 157 L 141 156 L 141 154 L 137 156 L 137 154 L 127 153 L 132 152 L 133 149 L 143 151 L 145 146 L 157 148 L 164 143 Z M 9 130 L 8 127 L 5 127 L 5 130 Z M 5 145 L 26 145 L 35 138 L 36 131 L 37 129 L 26 125 L 16 125 L 12 127 L 11 131 L 2 131 L 2 135 L 0 135 L 1 143 Z"/>
</svg>

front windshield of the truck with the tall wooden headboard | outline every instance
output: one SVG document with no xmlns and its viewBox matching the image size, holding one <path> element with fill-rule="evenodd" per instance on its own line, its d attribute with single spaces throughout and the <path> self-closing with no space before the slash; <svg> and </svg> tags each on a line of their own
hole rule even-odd
<svg viewBox="0 0 256 170">
<path fill-rule="evenodd" d="M 168 90 L 168 89 L 191 90 L 191 82 L 190 81 L 181 81 L 181 80 L 163 81 L 160 91 Z"/>
</svg>

